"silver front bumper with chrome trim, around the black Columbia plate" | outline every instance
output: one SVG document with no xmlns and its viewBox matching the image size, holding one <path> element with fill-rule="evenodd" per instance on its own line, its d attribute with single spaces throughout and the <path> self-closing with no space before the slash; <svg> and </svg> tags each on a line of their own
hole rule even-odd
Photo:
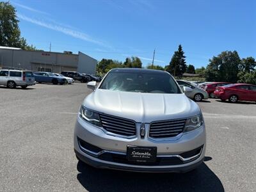
<svg viewBox="0 0 256 192">
<path fill-rule="evenodd" d="M 82 147 L 80 140 L 85 141 L 89 146 Z M 157 147 L 157 162 L 153 164 L 128 162 L 125 157 L 127 145 Z M 134 172 L 188 172 L 204 161 L 205 127 L 202 125 L 195 131 L 181 133 L 178 138 L 172 140 L 152 140 L 147 136 L 143 139 L 140 136 L 127 139 L 110 136 L 78 116 L 74 132 L 74 150 L 81 161 L 96 168 Z M 188 152 L 193 150 L 194 154 L 189 156 Z M 188 156 L 182 159 L 182 154 L 185 153 Z"/>
</svg>

